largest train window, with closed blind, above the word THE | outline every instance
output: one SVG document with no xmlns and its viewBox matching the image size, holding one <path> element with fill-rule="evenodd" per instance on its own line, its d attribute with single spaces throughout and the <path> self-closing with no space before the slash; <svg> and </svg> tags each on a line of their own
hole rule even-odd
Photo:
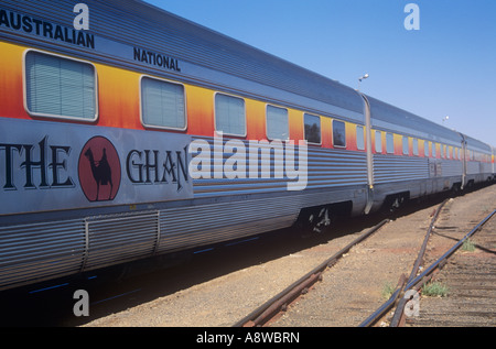
<svg viewBox="0 0 496 349">
<path fill-rule="evenodd" d="M 97 75 L 88 62 L 28 51 L 24 57 L 26 110 L 35 117 L 95 121 Z"/>
</svg>

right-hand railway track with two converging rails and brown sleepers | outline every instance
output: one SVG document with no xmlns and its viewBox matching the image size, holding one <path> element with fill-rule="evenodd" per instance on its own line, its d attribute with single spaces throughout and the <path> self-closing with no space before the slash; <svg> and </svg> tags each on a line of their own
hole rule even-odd
<svg viewBox="0 0 496 349">
<path fill-rule="evenodd" d="M 443 203 L 444 205 L 444 203 Z M 397 303 L 395 315 L 392 316 L 389 326 L 400 327 L 405 326 L 407 318 L 411 324 L 418 326 L 487 326 L 494 325 L 494 316 L 496 315 L 496 240 L 494 236 L 494 226 L 485 227 L 485 225 L 496 214 L 496 210 L 490 212 L 482 219 L 476 226 L 460 239 L 451 249 L 449 249 L 441 258 L 432 262 L 429 266 L 420 273 L 419 266 L 423 259 L 424 247 L 432 233 L 435 220 L 439 215 L 436 211 L 428 235 L 425 236 L 424 244 L 419 252 L 418 260 L 412 269 L 412 273 L 408 280 L 403 280 L 396 292 L 388 302 L 386 302 L 379 309 L 377 309 L 369 318 L 360 324 L 362 327 L 373 326 L 378 319 L 384 317 L 386 312 Z M 454 229 L 454 228 L 452 228 Z M 479 230 L 477 246 L 482 249 L 481 254 L 468 255 L 466 253 L 457 253 L 464 243 L 471 241 L 470 239 Z M 420 317 L 420 294 L 423 292 L 422 287 L 429 282 L 433 282 L 436 274 L 450 263 L 448 270 L 443 273 L 443 277 L 436 277 L 439 285 L 445 287 L 444 282 L 449 284 L 452 291 L 452 296 L 449 301 L 443 302 L 444 306 L 435 309 L 433 302 L 427 302 L 431 307 L 422 312 Z M 419 272 L 417 274 L 417 272 Z M 399 301 L 397 301 L 399 299 Z M 433 309 L 434 308 L 434 309 Z M 410 315 L 410 317 L 409 317 Z M 412 315 L 414 317 L 412 317 Z M 472 320 L 466 320 L 472 319 Z"/>
</svg>

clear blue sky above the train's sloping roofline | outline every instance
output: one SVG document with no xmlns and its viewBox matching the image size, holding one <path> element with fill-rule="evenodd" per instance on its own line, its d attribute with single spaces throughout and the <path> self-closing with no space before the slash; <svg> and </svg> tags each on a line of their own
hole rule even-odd
<svg viewBox="0 0 496 349">
<path fill-rule="evenodd" d="M 495 0 L 147 2 L 496 146 Z"/>
</svg>

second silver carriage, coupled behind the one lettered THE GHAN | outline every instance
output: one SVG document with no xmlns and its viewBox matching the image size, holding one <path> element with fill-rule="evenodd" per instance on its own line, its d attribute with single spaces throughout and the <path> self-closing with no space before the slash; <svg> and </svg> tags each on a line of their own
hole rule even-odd
<svg viewBox="0 0 496 349">
<path fill-rule="evenodd" d="M 377 204 L 387 197 L 417 198 L 462 186 L 462 138 L 457 132 L 368 99 L 373 132 L 381 132 L 385 145 L 374 154 Z"/>
</svg>

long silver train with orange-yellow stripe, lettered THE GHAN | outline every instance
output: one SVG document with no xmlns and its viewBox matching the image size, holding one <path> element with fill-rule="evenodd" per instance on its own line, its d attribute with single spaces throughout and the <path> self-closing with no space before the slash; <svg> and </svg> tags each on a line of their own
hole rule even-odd
<svg viewBox="0 0 496 349">
<path fill-rule="evenodd" d="M 0 1 L 0 291 L 495 179 L 495 148 L 137 0 Z"/>
</svg>

